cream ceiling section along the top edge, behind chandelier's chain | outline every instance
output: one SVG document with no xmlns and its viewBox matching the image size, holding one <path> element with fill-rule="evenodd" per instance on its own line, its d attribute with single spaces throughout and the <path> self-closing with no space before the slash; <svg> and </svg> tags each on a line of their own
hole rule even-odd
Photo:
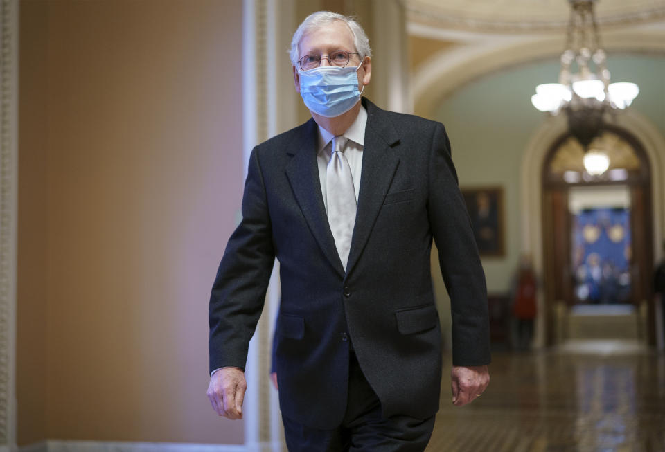
<svg viewBox="0 0 665 452">
<path fill-rule="evenodd" d="M 665 19 L 665 0 L 597 0 L 598 25 L 642 24 Z M 567 0 L 404 0 L 409 21 L 475 33 L 560 32 Z"/>
</svg>

